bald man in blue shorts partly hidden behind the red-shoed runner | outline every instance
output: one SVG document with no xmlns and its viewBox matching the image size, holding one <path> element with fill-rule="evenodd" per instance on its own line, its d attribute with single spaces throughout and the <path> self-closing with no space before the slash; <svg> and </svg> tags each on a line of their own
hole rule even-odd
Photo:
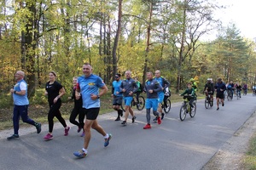
<svg viewBox="0 0 256 170">
<path fill-rule="evenodd" d="M 157 80 L 158 82 L 160 82 L 160 85 L 162 87 L 162 90 L 160 92 L 158 92 L 158 98 L 159 98 L 158 112 L 161 113 L 161 120 L 163 120 L 166 114 L 162 111 L 161 103 L 163 102 L 164 97 L 165 97 L 164 89 L 167 88 L 167 87 L 170 87 L 170 82 L 168 82 L 165 77 L 162 77 L 160 75 L 159 70 L 155 71 L 154 73 L 155 73 L 154 80 Z M 155 117 L 153 121 L 157 122 L 157 118 Z"/>
</svg>

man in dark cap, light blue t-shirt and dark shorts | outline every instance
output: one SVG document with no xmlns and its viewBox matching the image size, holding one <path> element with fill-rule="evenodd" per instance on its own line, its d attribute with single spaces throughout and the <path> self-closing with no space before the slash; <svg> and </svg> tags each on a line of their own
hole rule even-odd
<svg viewBox="0 0 256 170">
<path fill-rule="evenodd" d="M 123 110 L 120 109 L 120 105 L 122 105 L 123 101 L 123 94 L 121 93 L 120 86 L 122 81 L 120 80 L 121 75 L 116 74 L 114 76 L 115 81 L 112 82 L 112 94 L 113 97 L 113 110 L 118 112 L 118 117 L 115 119 L 115 121 L 120 121 L 120 116 L 123 116 Z"/>
</svg>

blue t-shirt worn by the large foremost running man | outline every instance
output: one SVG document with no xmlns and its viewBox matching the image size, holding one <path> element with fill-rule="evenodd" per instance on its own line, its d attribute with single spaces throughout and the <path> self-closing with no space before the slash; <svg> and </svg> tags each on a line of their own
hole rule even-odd
<svg viewBox="0 0 256 170">
<path fill-rule="evenodd" d="M 94 74 L 91 74 L 90 77 L 81 76 L 78 78 L 78 83 L 83 99 L 83 108 L 99 108 L 100 99 L 90 99 L 90 94 L 99 94 L 99 88 L 105 85 L 102 78 Z"/>
</svg>

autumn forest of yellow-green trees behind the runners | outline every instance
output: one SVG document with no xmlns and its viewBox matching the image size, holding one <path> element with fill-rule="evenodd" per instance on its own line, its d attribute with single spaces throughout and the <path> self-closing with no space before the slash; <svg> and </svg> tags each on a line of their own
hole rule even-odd
<svg viewBox="0 0 256 170">
<path fill-rule="evenodd" d="M 44 94 L 49 71 L 67 89 L 89 62 L 110 87 L 114 74 L 145 82 L 160 70 L 172 93 L 195 78 L 255 84 L 255 40 L 235 24 L 222 26 L 214 0 L 1 0 L 0 96 L 6 102 L 15 71 L 26 72 L 29 98 Z M 204 40 L 212 31 L 217 36 Z"/>
</svg>

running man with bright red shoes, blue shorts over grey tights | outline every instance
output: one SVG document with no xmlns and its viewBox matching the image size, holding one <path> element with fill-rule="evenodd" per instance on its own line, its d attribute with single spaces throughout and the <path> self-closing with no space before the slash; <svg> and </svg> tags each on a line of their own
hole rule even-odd
<svg viewBox="0 0 256 170">
<path fill-rule="evenodd" d="M 153 79 L 153 73 L 147 72 L 147 81 L 145 83 L 145 90 L 147 93 L 147 99 L 146 99 L 146 118 L 147 118 L 147 124 L 143 129 L 151 128 L 150 126 L 150 109 L 153 109 L 154 116 L 157 117 L 158 124 L 161 124 L 161 119 L 159 116 L 159 112 L 157 111 L 158 108 L 158 92 L 162 90 L 162 87 L 160 85 L 160 82 Z"/>
</svg>

